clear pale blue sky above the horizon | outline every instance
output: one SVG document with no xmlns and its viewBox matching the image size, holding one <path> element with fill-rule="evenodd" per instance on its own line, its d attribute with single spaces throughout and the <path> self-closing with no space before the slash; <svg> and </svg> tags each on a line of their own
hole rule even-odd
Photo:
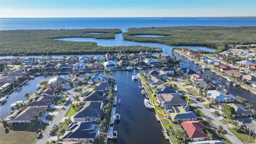
<svg viewBox="0 0 256 144">
<path fill-rule="evenodd" d="M 256 0 L 0 0 L 0 18 L 256 16 Z"/>
</svg>

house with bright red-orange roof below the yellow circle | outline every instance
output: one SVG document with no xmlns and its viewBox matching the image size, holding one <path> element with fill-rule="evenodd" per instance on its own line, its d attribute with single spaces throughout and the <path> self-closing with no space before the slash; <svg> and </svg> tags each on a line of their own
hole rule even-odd
<svg viewBox="0 0 256 144">
<path fill-rule="evenodd" d="M 182 127 L 188 133 L 188 136 L 191 138 L 192 141 L 199 141 L 204 140 L 206 138 L 206 134 L 204 132 L 204 124 L 198 121 L 190 121 L 190 122 L 181 122 Z"/>
</svg>

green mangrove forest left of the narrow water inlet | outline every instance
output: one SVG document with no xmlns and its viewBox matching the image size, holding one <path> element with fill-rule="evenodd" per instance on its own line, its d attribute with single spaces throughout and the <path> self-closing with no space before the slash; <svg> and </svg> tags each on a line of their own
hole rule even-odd
<svg viewBox="0 0 256 144">
<path fill-rule="evenodd" d="M 91 34 L 98 33 L 98 34 Z M 0 56 L 106 54 L 106 52 L 140 52 L 161 49 L 148 46 L 98 46 L 96 42 L 73 42 L 58 38 L 114 39 L 120 29 L 1 30 Z"/>
</svg>

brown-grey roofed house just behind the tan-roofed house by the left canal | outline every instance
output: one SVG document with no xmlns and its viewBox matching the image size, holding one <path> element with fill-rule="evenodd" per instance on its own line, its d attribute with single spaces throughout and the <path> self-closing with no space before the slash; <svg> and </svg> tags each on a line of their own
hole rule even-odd
<svg viewBox="0 0 256 144">
<path fill-rule="evenodd" d="M 33 100 L 30 100 L 27 103 L 27 107 L 45 107 L 45 108 L 47 108 L 48 106 L 50 106 L 51 102 L 52 102 L 51 97 L 36 96 L 36 97 L 34 97 Z"/>
</svg>

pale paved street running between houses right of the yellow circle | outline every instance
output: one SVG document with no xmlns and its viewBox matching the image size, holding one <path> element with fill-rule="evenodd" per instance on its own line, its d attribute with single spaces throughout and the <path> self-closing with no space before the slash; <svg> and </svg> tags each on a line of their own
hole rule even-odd
<svg viewBox="0 0 256 144">
<path fill-rule="evenodd" d="M 177 83 L 181 85 L 182 83 L 182 79 L 177 78 Z M 230 132 L 230 130 L 228 130 L 228 127 L 225 124 L 222 124 L 218 118 L 216 118 L 210 111 L 210 109 L 205 108 L 202 104 L 202 102 L 198 102 L 196 100 L 195 96 L 192 96 L 190 93 L 188 93 L 189 99 L 193 102 L 193 105 L 197 106 L 198 108 L 200 108 L 200 110 L 206 115 L 208 116 L 212 123 L 214 123 L 215 126 L 218 125 L 222 125 L 223 129 L 225 129 L 228 133 L 225 134 L 225 136 L 228 138 L 228 140 L 230 140 L 232 142 L 232 144 L 243 144 L 238 138 L 236 138 L 236 136 L 234 136 L 232 134 L 232 132 Z"/>
</svg>

